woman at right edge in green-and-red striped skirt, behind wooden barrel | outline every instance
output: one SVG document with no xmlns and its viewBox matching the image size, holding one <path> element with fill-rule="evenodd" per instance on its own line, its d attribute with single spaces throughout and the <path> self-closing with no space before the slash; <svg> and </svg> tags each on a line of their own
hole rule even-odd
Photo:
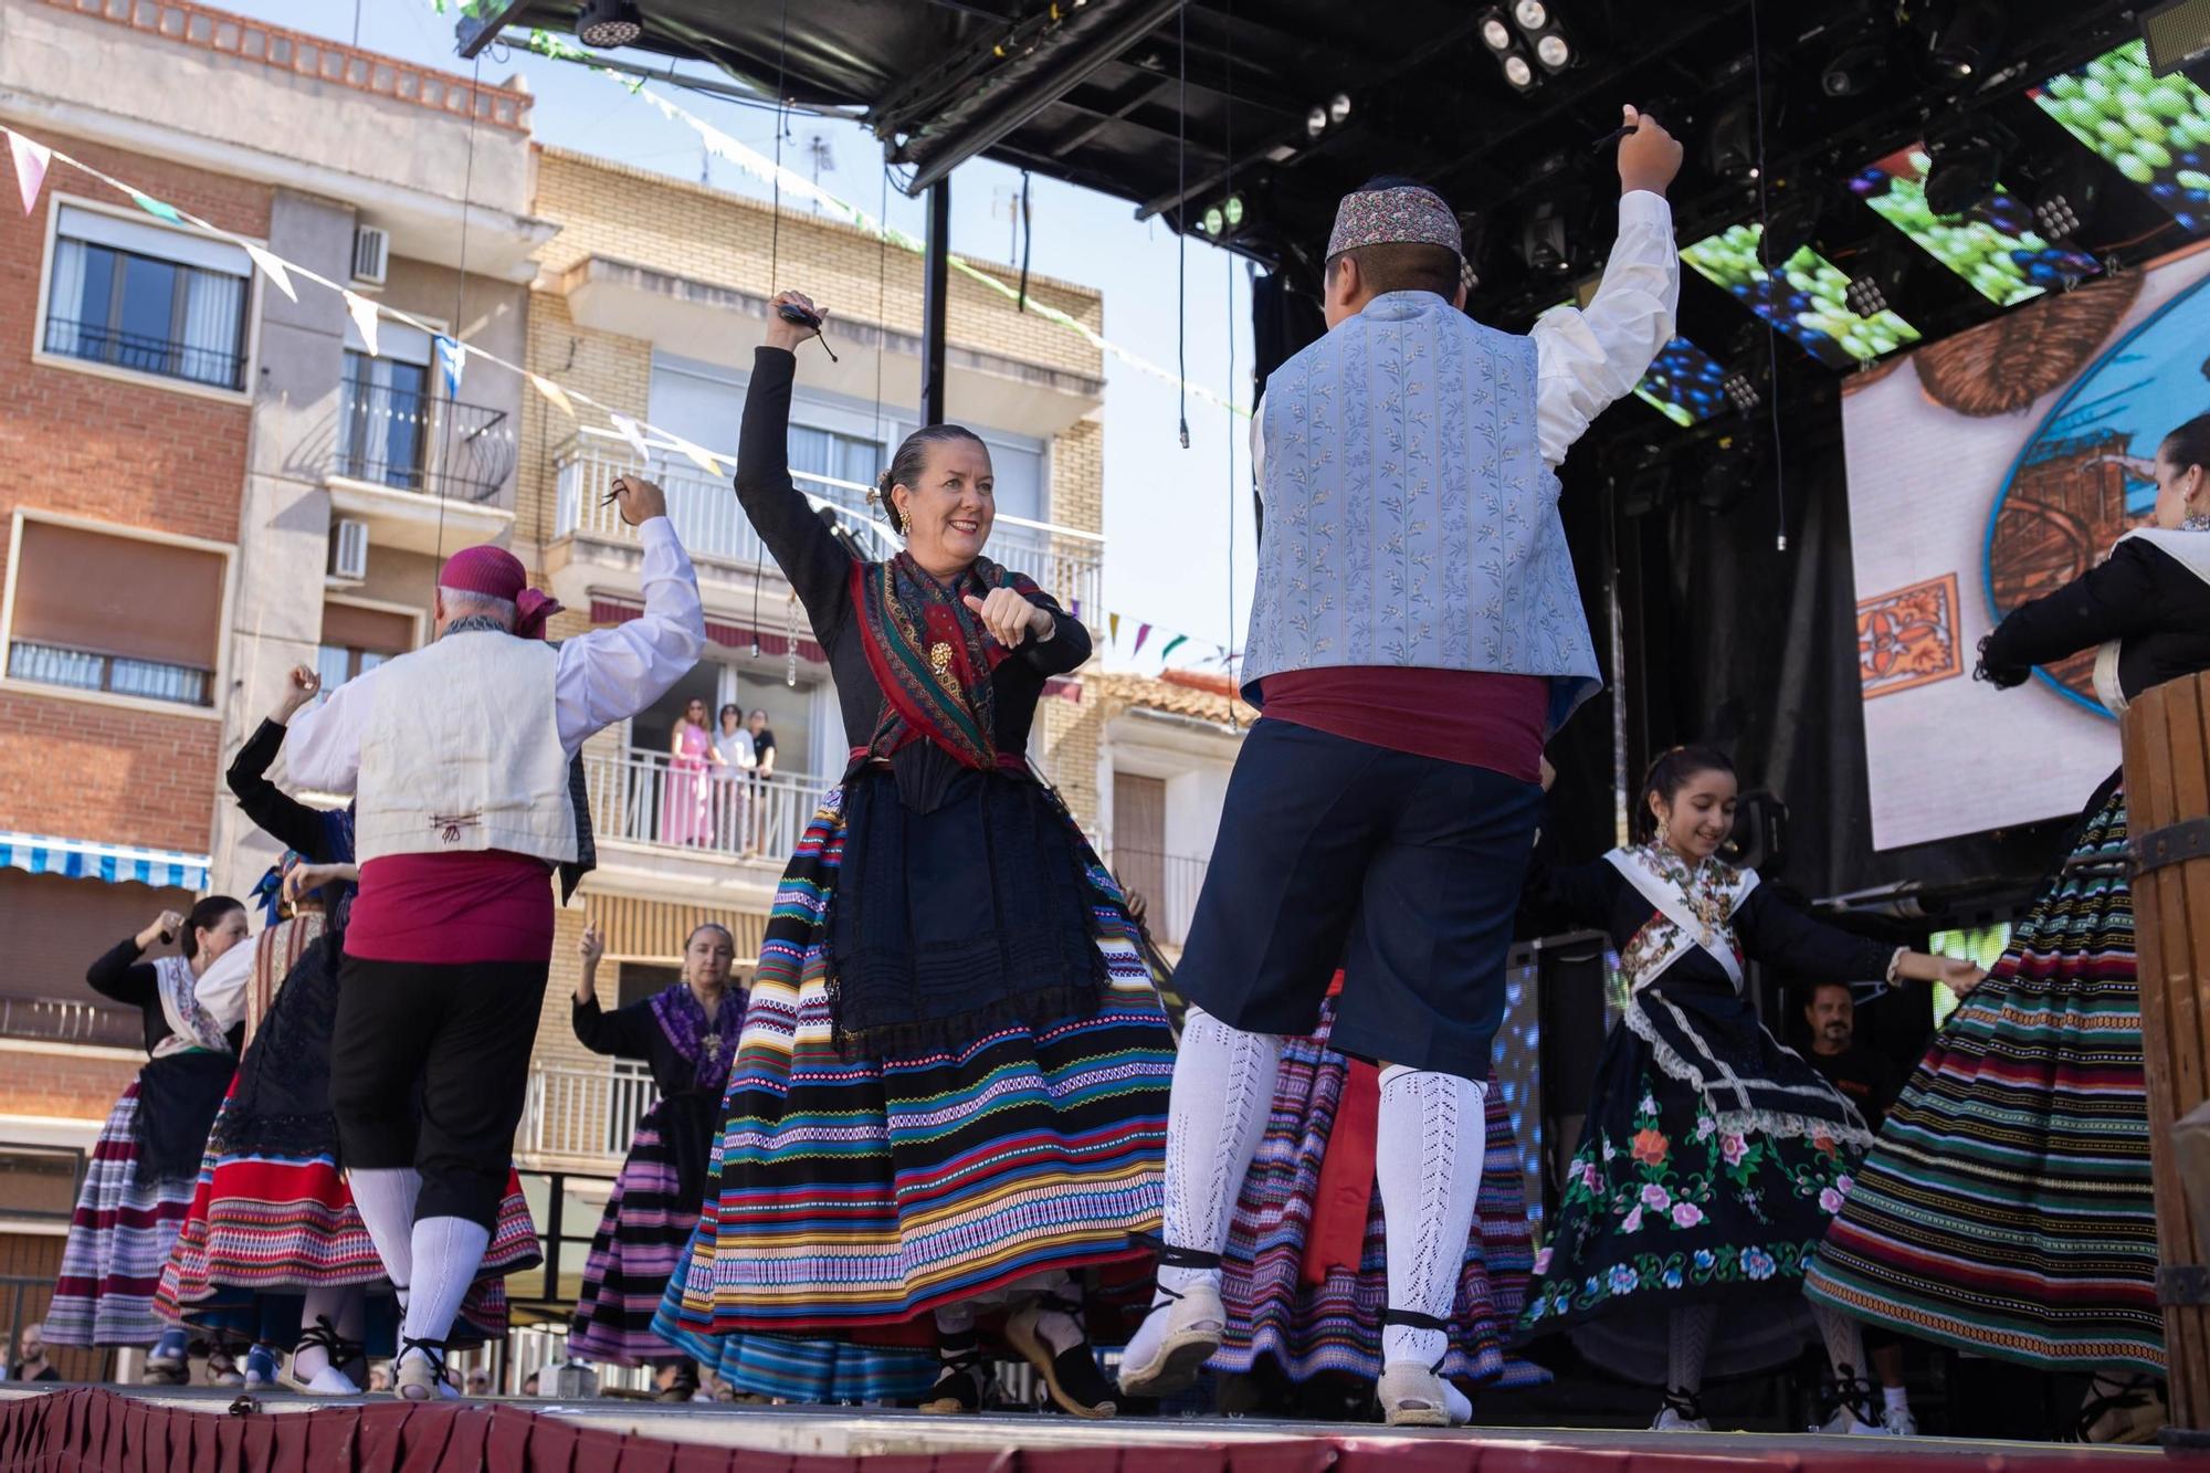
<svg viewBox="0 0 2210 1473">
<path fill-rule="evenodd" d="M 2153 467 L 2153 526 L 1980 644 L 2022 686 L 2097 648 L 2113 714 L 2210 668 L 2210 416 Z M 2011 944 L 1927 1048 L 1810 1267 L 1812 1298 L 2038 1369 L 2091 1371 L 2082 1433 L 2153 1438 L 2164 1316 L 2133 971 L 2126 792 L 2095 790 Z"/>
</svg>

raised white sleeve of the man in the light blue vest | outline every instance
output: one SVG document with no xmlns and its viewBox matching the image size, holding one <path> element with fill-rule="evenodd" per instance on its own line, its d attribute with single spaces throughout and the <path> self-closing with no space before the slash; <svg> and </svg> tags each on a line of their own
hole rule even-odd
<svg viewBox="0 0 2210 1473">
<path fill-rule="evenodd" d="M 1587 307 L 1545 312 L 1536 343 L 1536 440 L 1560 464 L 1589 422 L 1642 380 L 1673 336 L 1680 252 L 1664 195 L 1620 195 L 1620 239 Z"/>
</svg>

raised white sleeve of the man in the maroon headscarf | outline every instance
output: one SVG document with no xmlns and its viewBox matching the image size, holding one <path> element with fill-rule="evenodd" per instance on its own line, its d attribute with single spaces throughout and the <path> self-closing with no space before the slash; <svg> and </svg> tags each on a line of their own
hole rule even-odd
<svg viewBox="0 0 2210 1473">
<path fill-rule="evenodd" d="M 559 646 L 552 706 L 568 756 L 581 752 L 592 732 L 667 694 L 705 652 L 698 575 L 676 529 L 667 518 L 652 518 L 636 529 L 636 540 L 645 546 L 645 613 Z"/>
</svg>

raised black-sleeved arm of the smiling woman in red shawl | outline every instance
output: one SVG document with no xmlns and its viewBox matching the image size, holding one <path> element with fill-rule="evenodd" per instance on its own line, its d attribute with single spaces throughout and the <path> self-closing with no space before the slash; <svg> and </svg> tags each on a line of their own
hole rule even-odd
<svg viewBox="0 0 2210 1473">
<path fill-rule="evenodd" d="M 791 480 L 793 349 L 802 332 L 769 312 L 767 345 L 751 352 L 745 422 L 736 438 L 736 500 L 807 606 L 813 633 L 827 641 L 851 604 L 851 553 Z"/>
</svg>

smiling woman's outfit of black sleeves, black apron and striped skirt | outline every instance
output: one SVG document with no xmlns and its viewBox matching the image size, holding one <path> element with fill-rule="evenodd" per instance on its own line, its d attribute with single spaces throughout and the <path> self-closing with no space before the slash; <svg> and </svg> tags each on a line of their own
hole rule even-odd
<svg viewBox="0 0 2210 1473">
<path fill-rule="evenodd" d="M 1054 630 L 988 677 L 1001 765 L 933 739 L 869 752 L 886 699 L 855 584 L 886 568 L 855 562 L 791 484 L 791 363 L 756 354 L 736 489 L 829 652 L 860 756 L 782 874 L 723 1106 L 720 1212 L 654 1323 L 749 1389 L 774 1389 L 747 1378 L 749 1334 L 915 1320 L 1039 1270 L 1145 1258 L 1174 1070 L 1125 900 L 1065 807 L 1003 765 L 1087 633 L 1028 595 Z"/>
</svg>

